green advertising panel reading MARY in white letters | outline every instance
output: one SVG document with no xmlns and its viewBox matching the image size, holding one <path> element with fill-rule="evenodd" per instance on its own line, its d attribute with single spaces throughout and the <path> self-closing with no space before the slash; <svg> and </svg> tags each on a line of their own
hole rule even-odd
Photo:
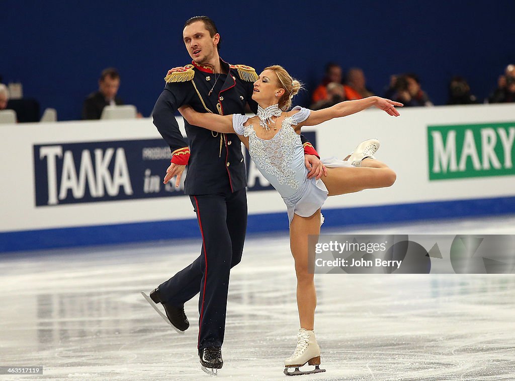
<svg viewBox="0 0 515 381">
<path fill-rule="evenodd" d="M 515 175 L 514 140 L 515 122 L 427 126 L 429 179 Z"/>
</svg>

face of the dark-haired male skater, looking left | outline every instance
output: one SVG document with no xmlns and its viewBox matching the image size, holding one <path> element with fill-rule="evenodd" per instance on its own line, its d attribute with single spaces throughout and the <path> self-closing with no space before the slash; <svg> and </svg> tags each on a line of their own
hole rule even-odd
<svg viewBox="0 0 515 381">
<path fill-rule="evenodd" d="M 186 25 L 182 31 L 182 40 L 190 57 L 197 63 L 208 63 L 216 57 L 220 36 L 210 36 L 209 30 L 205 28 L 203 21 L 196 21 Z"/>
</svg>

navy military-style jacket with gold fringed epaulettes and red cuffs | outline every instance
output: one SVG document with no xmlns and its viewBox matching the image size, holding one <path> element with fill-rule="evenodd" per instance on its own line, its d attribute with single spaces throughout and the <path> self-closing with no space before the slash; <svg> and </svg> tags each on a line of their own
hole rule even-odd
<svg viewBox="0 0 515 381">
<path fill-rule="evenodd" d="M 242 145 L 236 134 L 221 134 L 193 126 L 184 127 L 189 144 L 184 140 L 175 119 L 183 105 L 198 112 L 221 115 L 245 113 L 247 102 L 255 113 L 258 105 L 252 100 L 255 70 L 246 65 L 230 65 L 220 60 L 227 74 L 214 73 L 210 66 L 195 61 L 166 77 L 167 84 L 152 111 L 153 123 L 170 146 L 171 162 L 188 165 L 184 193 L 211 194 L 247 186 Z M 317 155 L 304 137 L 306 154 Z"/>
</svg>

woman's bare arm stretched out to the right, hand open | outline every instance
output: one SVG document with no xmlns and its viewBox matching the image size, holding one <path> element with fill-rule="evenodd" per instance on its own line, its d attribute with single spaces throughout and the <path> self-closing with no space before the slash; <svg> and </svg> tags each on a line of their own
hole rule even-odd
<svg viewBox="0 0 515 381">
<path fill-rule="evenodd" d="M 302 125 L 314 126 L 333 118 L 346 117 L 347 115 L 354 114 L 372 106 L 386 111 L 388 115 L 398 117 L 400 114 L 399 111 L 396 110 L 395 106 L 403 106 L 403 104 L 390 101 L 389 99 L 381 98 L 379 96 L 369 96 L 356 101 L 340 102 L 329 108 L 311 111 L 310 117 L 308 117 Z"/>
</svg>

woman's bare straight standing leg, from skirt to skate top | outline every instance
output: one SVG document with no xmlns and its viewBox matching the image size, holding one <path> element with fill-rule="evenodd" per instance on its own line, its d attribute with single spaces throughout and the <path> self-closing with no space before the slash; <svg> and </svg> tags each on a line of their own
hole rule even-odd
<svg viewBox="0 0 515 381">
<path fill-rule="evenodd" d="M 297 273 L 297 306 L 301 328 L 313 330 L 317 295 L 314 274 L 308 273 L 308 236 L 320 234 L 320 209 L 311 217 L 300 217 L 295 214 L 290 224 L 290 249 L 295 259 Z M 312 244 L 316 240 L 311 241 Z M 313 248 L 314 249 L 314 248 Z M 312 258 L 314 260 L 314 258 Z"/>
</svg>

